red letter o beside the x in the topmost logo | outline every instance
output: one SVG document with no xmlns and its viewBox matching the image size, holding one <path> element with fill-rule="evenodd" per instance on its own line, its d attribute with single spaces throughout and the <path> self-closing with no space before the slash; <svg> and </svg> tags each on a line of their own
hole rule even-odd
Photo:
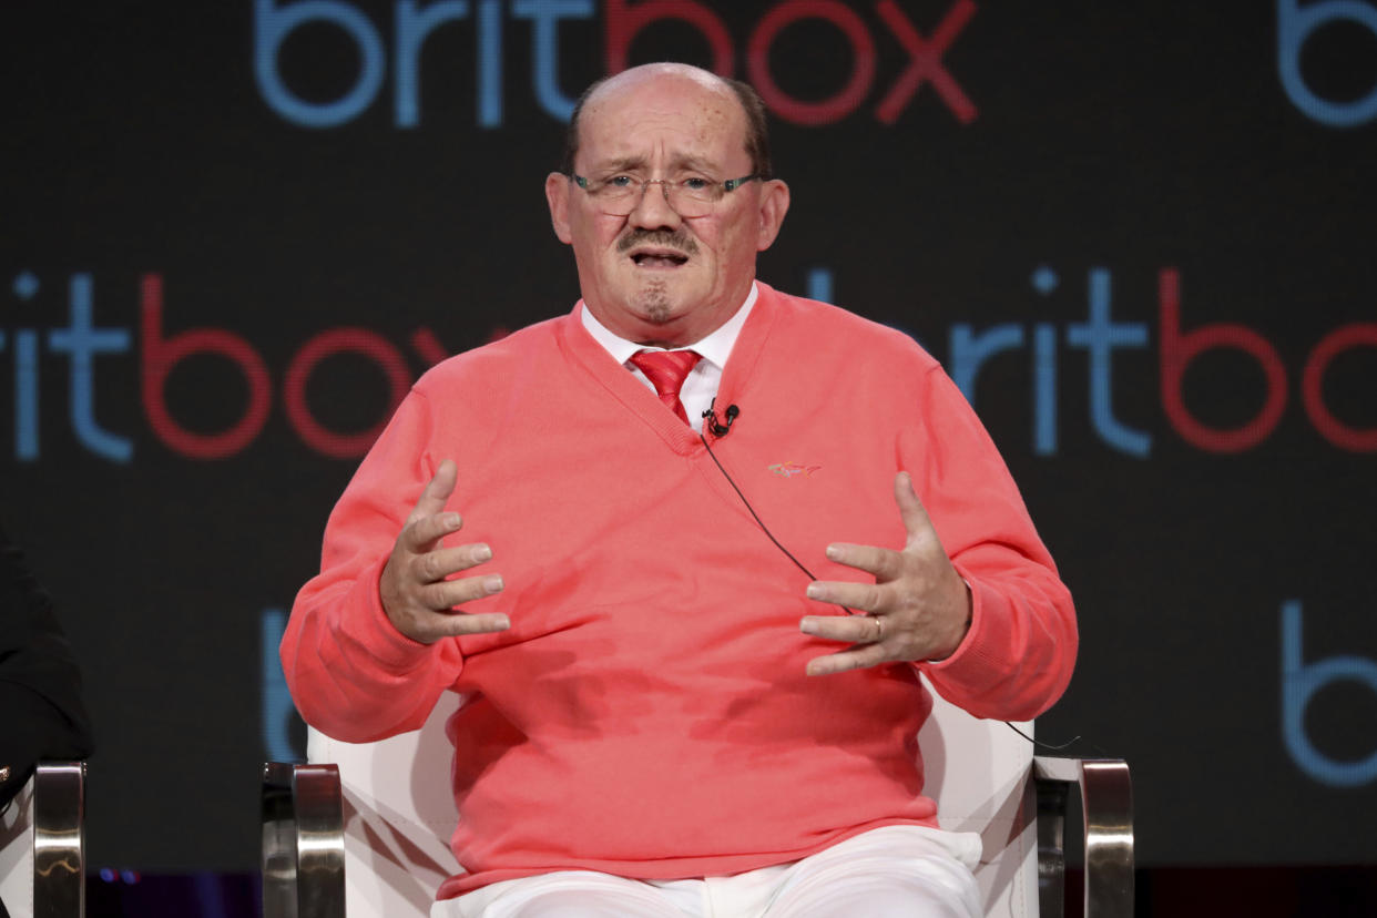
<svg viewBox="0 0 1377 918">
<path fill-rule="evenodd" d="M 839 92 L 821 102 L 804 102 L 786 95 L 770 73 L 770 45 L 785 26 L 799 19 L 825 19 L 841 30 L 851 44 L 851 78 Z M 837 0 L 788 0 L 766 14 L 750 33 L 746 70 L 770 110 L 795 124 L 830 124 L 856 110 L 874 81 L 874 43 L 850 7 Z"/>
</svg>

